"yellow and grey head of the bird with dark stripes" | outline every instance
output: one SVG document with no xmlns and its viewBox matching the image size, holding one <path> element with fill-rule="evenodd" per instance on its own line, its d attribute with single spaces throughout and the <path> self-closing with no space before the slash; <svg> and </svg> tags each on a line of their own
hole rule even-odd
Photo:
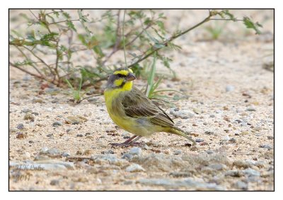
<svg viewBox="0 0 283 200">
<path fill-rule="evenodd" d="M 109 76 L 107 88 L 129 91 L 132 89 L 132 81 L 134 79 L 136 77 L 131 69 L 127 67 L 119 68 Z"/>
</svg>

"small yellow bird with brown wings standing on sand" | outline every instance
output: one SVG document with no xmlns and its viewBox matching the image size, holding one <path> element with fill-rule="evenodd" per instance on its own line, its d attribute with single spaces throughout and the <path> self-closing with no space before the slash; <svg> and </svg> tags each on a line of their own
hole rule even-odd
<svg viewBox="0 0 283 200">
<path fill-rule="evenodd" d="M 111 145 L 127 147 L 139 144 L 136 143 L 139 138 L 149 137 L 156 132 L 180 135 L 195 145 L 195 140 L 175 126 L 173 120 L 160 106 L 134 87 L 134 79 L 136 77 L 128 67 L 114 70 L 108 77 L 104 97 L 109 116 L 117 126 L 134 134 L 124 143 L 111 143 Z"/>
</svg>

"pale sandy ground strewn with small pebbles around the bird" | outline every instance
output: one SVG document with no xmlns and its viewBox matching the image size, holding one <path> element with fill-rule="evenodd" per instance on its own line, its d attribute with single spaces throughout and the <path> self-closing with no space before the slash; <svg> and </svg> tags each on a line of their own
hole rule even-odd
<svg viewBox="0 0 283 200">
<path fill-rule="evenodd" d="M 167 26 L 174 16 L 202 18 L 205 13 L 166 12 L 172 14 Z M 131 134 L 112 123 L 103 96 L 74 105 L 63 89 L 42 92 L 42 82 L 10 67 L 9 189 L 273 190 L 274 74 L 262 67 L 273 46 L 272 11 L 238 13 L 271 19 L 262 35 L 245 35 L 242 28 L 238 40 L 234 26 L 219 40 L 203 40 L 200 28 L 180 38 L 183 49 L 168 55 L 180 81 L 168 79 L 161 89 L 190 97 L 164 109 L 196 146 L 156 133 L 141 138 L 143 148 L 112 148 L 109 143 Z M 158 69 L 164 67 L 158 64 Z M 74 116 L 80 118 L 69 124 Z"/>
</svg>

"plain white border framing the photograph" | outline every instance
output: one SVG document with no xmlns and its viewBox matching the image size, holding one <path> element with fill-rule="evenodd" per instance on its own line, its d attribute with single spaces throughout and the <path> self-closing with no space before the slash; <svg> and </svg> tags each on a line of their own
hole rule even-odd
<svg viewBox="0 0 283 200">
<path fill-rule="evenodd" d="M 89 199 L 144 199 L 145 197 L 150 199 L 238 199 L 239 197 L 243 197 L 243 199 L 277 199 L 277 194 L 282 193 L 282 13 L 283 9 L 279 6 L 280 1 L 227 1 L 227 0 L 213 0 L 213 1 L 185 1 L 185 0 L 143 0 L 143 1 L 130 1 L 130 0 L 119 0 L 119 1 L 92 1 L 92 0 L 79 0 L 79 1 L 1 1 L 1 65 L 0 65 L 0 80 L 1 80 L 1 93 L 3 95 L 0 98 L 0 111 L 1 111 L 1 153 L 0 153 L 0 187 L 1 187 L 1 196 L 6 198 L 6 194 L 8 194 L 9 199 L 50 199 L 54 197 L 54 199 L 66 199 L 70 197 L 74 198 L 89 198 Z M 276 101 L 276 129 L 275 129 L 275 190 L 276 192 L 94 192 L 94 193 L 74 193 L 74 192 L 10 192 L 8 191 L 8 8 L 275 8 L 275 34 L 276 34 L 276 91 L 275 91 L 275 101 Z M 281 21 L 280 21 L 281 20 Z M 87 197 L 86 197 L 87 196 Z M 280 195 L 282 196 L 282 195 Z"/>
</svg>

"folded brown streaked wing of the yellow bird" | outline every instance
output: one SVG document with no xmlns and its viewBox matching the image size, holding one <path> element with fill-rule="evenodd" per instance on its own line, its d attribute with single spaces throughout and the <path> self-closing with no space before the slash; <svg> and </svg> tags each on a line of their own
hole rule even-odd
<svg viewBox="0 0 283 200">
<path fill-rule="evenodd" d="M 159 126 L 173 127 L 172 119 L 139 89 L 133 87 L 132 91 L 124 96 L 122 101 L 125 113 L 133 118 L 147 118 L 151 123 Z"/>
</svg>

